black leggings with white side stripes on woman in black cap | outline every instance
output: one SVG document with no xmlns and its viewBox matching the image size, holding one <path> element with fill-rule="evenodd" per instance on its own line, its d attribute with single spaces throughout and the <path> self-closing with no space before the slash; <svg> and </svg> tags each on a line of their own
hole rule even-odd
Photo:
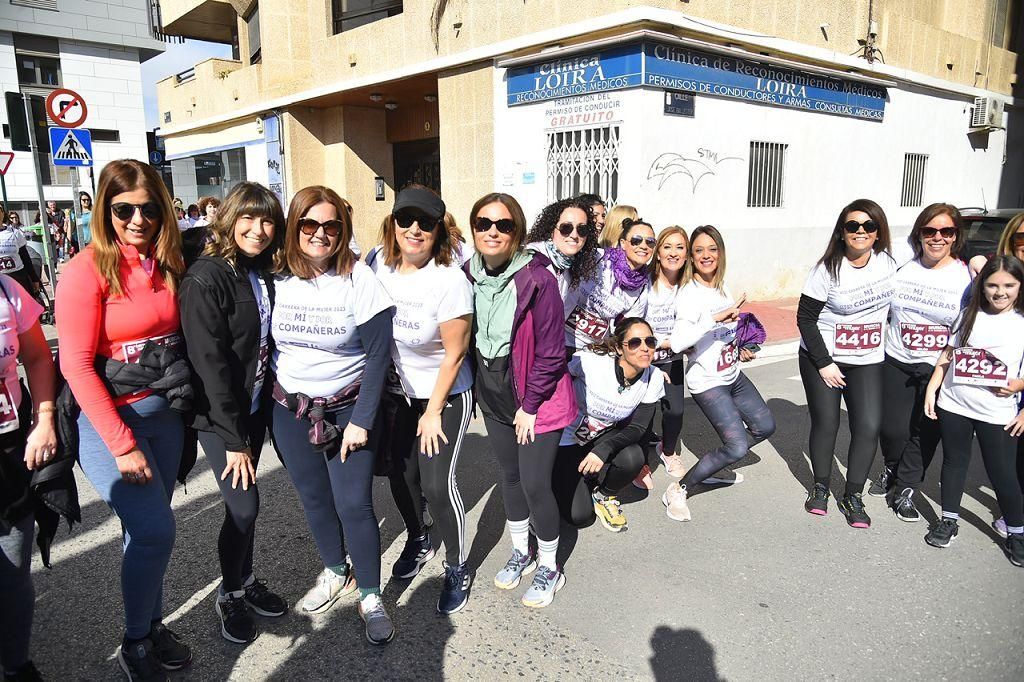
<svg viewBox="0 0 1024 682">
<path fill-rule="evenodd" d="M 413 399 L 410 404 L 404 396 L 390 393 L 384 399 L 391 401 L 389 409 L 395 412 L 390 442 L 392 466 L 388 479 L 409 537 L 419 538 L 424 534 L 420 500 L 426 495 L 434 522 L 444 541 L 449 565 L 460 565 L 466 561 L 466 507 L 459 495 L 456 468 L 466 429 L 473 416 L 473 393 L 465 391 L 449 396 L 447 404 L 441 411 L 441 428 L 449 441 L 444 444 L 438 439 L 440 453 L 433 457 L 420 452 L 420 438 L 416 435 L 427 400 Z"/>
</svg>

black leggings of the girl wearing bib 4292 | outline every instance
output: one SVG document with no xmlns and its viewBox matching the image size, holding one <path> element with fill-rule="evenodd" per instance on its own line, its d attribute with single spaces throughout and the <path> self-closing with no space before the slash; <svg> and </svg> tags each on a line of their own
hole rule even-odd
<svg viewBox="0 0 1024 682">
<path fill-rule="evenodd" d="M 971 436 L 977 435 L 985 472 L 1007 525 L 1024 525 L 1024 494 L 1017 472 L 1017 438 L 1002 430 L 1002 424 L 981 422 L 941 408 L 936 412 L 942 430 L 942 511 L 959 513 L 971 463 Z"/>
</svg>

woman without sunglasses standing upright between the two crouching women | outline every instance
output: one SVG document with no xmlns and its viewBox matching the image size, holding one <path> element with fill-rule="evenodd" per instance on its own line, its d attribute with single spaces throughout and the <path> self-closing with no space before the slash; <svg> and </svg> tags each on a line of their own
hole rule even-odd
<svg viewBox="0 0 1024 682">
<path fill-rule="evenodd" d="M 660 231 L 657 244 L 654 245 L 650 292 L 647 294 L 646 319 L 657 338 L 653 363 L 668 377 L 665 396 L 662 398 L 662 440 L 656 452 L 665 465 L 666 473 L 673 478 L 682 478 L 686 473 L 683 459 L 676 454 L 679 434 L 683 430 L 685 360 L 682 353 L 672 352 L 672 331 L 676 328 L 676 311 L 679 308 L 681 285 L 684 284 L 689 242 L 686 230 L 679 225 L 672 225 Z M 637 487 L 647 491 L 654 487 L 649 464 L 644 464 L 633 482 Z"/>
</svg>

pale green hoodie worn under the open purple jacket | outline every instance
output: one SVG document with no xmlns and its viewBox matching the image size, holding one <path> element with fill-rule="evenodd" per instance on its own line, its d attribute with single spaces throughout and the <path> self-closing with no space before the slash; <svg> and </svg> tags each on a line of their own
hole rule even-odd
<svg viewBox="0 0 1024 682">
<path fill-rule="evenodd" d="M 486 358 L 508 355 L 512 349 L 512 324 L 515 317 L 516 290 L 512 278 L 526 267 L 534 254 L 512 254 L 508 266 L 498 274 L 487 274 L 483 258 L 473 254 L 469 272 L 473 275 L 473 338 L 476 349 Z"/>
</svg>

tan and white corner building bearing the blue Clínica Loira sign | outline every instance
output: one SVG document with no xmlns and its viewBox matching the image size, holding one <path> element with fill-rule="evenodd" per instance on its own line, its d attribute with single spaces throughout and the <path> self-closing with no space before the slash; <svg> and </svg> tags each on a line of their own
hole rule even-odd
<svg viewBox="0 0 1024 682">
<path fill-rule="evenodd" d="M 179 195 L 328 184 L 364 247 L 413 180 L 461 223 L 487 191 L 592 191 L 717 225 L 735 291 L 793 295 L 853 199 L 900 235 L 935 201 L 1024 205 L 1020 4 L 161 0 L 236 57 L 158 84 L 161 134 Z"/>
</svg>

